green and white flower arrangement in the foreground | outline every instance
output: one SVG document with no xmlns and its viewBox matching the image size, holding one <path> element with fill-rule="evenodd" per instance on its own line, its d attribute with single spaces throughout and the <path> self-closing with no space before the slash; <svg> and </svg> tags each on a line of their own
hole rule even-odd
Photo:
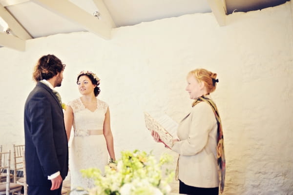
<svg viewBox="0 0 293 195">
<path fill-rule="evenodd" d="M 95 187 L 88 195 L 166 195 L 174 172 L 166 168 L 163 177 L 162 165 L 172 161 L 172 156 L 162 155 L 159 162 L 150 153 L 135 150 L 123 151 L 121 159 L 110 161 L 105 167 L 105 176 L 96 168 L 81 170 L 83 176 L 92 178 Z"/>
</svg>

